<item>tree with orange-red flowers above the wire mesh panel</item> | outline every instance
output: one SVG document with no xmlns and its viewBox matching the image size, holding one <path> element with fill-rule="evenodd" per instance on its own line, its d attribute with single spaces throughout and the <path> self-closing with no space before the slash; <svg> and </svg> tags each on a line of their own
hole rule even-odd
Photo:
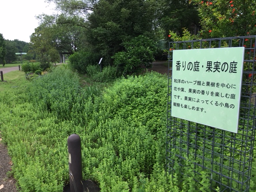
<svg viewBox="0 0 256 192">
<path fill-rule="evenodd" d="M 256 34 L 255 0 L 191 0 L 198 6 L 203 38 Z"/>
</svg>

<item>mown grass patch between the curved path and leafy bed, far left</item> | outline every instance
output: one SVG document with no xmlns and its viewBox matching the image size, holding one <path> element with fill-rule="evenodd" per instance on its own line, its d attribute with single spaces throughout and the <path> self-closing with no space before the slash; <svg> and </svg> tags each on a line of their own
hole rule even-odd
<svg viewBox="0 0 256 192">
<path fill-rule="evenodd" d="M 25 78 L 23 71 L 12 71 L 4 74 L 4 81 L 0 81 L 0 92 L 10 90 L 10 88 L 21 87 L 28 80 Z"/>
</svg>

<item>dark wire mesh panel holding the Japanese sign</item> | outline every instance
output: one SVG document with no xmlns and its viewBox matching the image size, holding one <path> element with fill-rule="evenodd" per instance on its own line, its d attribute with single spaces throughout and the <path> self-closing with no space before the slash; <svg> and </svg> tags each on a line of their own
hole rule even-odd
<svg viewBox="0 0 256 192">
<path fill-rule="evenodd" d="M 212 191 L 249 191 L 255 136 L 256 36 L 170 42 L 168 74 L 168 125 L 166 170 L 174 175 L 192 175 L 210 180 Z M 238 132 L 173 117 L 173 50 L 245 47 Z M 188 168 L 189 167 L 189 168 Z M 181 179 L 182 180 L 182 179 Z"/>
</svg>

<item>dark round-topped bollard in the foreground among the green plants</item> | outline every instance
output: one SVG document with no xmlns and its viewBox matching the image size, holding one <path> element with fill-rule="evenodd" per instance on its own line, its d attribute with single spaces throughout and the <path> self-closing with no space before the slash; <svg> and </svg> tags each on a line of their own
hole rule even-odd
<svg viewBox="0 0 256 192">
<path fill-rule="evenodd" d="M 77 134 L 68 137 L 70 192 L 83 192 L 81 139 Z"/>
</svg>

